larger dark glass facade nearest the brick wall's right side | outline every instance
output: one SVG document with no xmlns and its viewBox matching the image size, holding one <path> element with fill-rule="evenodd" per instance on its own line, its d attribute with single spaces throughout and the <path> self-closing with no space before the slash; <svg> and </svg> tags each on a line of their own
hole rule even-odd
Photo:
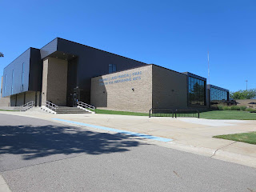
<svg viewBox="0 0 256 192">
<path fill-rule="evenodd" d="M 189 77 L 188 81 L 189 106 L 206 106 L 206 81 L 194 77 Z"/>
</svg>

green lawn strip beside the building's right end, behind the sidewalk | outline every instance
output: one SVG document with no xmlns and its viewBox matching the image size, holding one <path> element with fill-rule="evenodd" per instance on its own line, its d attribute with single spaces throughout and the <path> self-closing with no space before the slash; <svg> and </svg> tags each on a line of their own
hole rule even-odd
<svg viewBox="0 0 256 192">
<path fill-rule="evenodd" d="M 256 113 L 241 110 L 214 110 L 200 113 L 200 118 L 256 120 Z"/>
</svg>

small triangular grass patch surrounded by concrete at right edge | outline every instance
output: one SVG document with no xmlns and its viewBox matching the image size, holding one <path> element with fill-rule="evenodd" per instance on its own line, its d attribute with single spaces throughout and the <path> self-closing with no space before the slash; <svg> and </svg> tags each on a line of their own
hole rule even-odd
<svg viewBox="0 0 256 192">
<path fill-rule="evenodd" d="M 214 138 L 223 138 L 227 140 L 237 141 L 237 142 L 247 142 L 256 145 L 256 132 L 244 133 L 244 134 L 224 134 L 217 135 Z"/>
</svg>

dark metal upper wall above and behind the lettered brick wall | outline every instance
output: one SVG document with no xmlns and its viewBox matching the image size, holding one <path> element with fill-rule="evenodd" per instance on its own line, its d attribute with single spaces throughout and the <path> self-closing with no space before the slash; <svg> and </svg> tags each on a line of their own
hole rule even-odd
<svg viewBox="0 0 256 192">
<path fill-rule="evenodd" d="M 90 102 L 90 78 L 108 74 L 109 64 L 115 64 L 117 71 L 146 65 L 144 62 L 138 62 L 62 38 L 58 38 L 58 51 L 78 56 L 77 86 L 83 90 L 81 96 L 84 98 L 82 99 L 84 102 Z"/>
</svg>

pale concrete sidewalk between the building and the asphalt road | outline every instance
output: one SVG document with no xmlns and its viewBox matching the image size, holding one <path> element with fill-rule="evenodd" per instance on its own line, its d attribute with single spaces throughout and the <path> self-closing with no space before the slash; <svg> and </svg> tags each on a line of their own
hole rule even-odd
<svg viewBox="0 0 256 192">
<path fill-rule="evenodd" d="M 201 118 L 148 118 L 110 114 L 46 114 L 37 111 L 1 111 L 0 113 L 41 118 L 54 122 L 59 121 L 53 118 L 60 118 L 94 126 L 104 126 L 139 134 L 170 138 L 173 139 L 172 142 L 158 142 L 146 138 L 140 139 L 143 142 L 149 142 L 158 146 L 201 154 L 210 158 L 217 158 L 256 168 L 255 145 L 212 138 L 214 135 L 219 134 L 238 134 L 256 131 L 256 121 L 208 120 Z M 86 127 L 86 129 L 95 131 L 92 127 Z M 96 131 L 111 132 L 107 130 Z"/>
</svg>

